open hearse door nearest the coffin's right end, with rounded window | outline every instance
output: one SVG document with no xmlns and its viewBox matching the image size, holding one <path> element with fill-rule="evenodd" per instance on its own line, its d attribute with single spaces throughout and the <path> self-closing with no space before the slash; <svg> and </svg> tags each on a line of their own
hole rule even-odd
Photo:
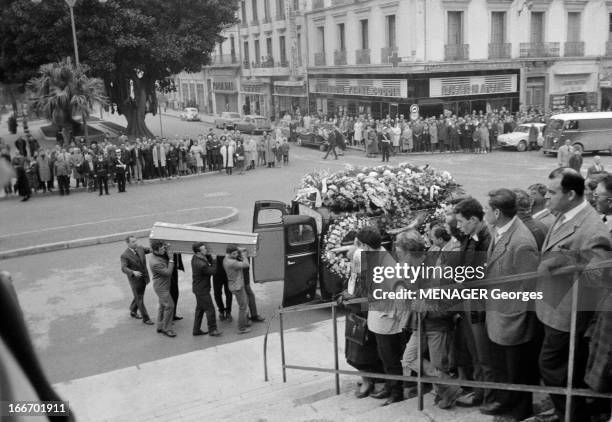
<svg viewBox="0 0 612 422">
<path fill-rule="evenodd" d="M 287 213 L 284 202 L 255 202 L 253 233 L 259 234 L 259 248 L 257 256 L 253 258 L 253 279 L 256 283 L 285 279 L 283 216 Z"/>
</svg>

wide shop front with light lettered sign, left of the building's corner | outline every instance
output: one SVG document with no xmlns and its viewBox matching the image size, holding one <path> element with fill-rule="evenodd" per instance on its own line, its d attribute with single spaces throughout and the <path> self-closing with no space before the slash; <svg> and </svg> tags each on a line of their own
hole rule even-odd
<svg viewBox="0 0 612 422">
<path fill-rule="evenodd" d="M 406 79 L 309 79 L 310 113 L 327 117 L 395 115 L 407 103 Z"/>
</svg>

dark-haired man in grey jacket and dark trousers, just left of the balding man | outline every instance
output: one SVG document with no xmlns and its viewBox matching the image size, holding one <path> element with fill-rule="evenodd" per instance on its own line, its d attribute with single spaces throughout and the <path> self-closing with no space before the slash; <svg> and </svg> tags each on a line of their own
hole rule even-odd
<svg viewBox="0 0 612 422">
<path fill-rule="evenodd" d="M 489 192 L 485 221 L 494 228 L 487 251 L 487 278 L 533 272 L 538 267 L 538 248 L 527 226 L 517 215 L 516 194 L 509 189 Z M 490 286 L 504 292 L 530 292 L 529 281 Z M 537 318 L 527 310 L 527 302 L 495 300 L 486 302 L 486 327 L 491 339 L 491 360 L 497 381 L 512 384 L 539 382 L 536 338 Z M 535 375 L 535 376 L 534 376 Z M 507 414 L 523 420 L 533 414 L 532 393 L 496 392 L 496 401 L 483 406 L 488 415 Z"/>
</svg>

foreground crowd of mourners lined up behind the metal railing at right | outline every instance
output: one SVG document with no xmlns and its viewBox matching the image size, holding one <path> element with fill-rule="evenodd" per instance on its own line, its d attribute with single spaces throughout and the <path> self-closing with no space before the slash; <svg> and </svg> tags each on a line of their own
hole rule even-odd
<svg viewBox="0 0 612 422">
<path fill-rule="evenodd" d="M 362 228 L 354 233 L 354 246 L 348 252 L 352 276 L 339 300 L 368 297 L 370 301 L 365 309 L 347 305 L 347 361 L 364 372 L 414 375 L 421 370 L 420 334 L 424 376 L 566 387 L 574 275 L 555 275 L 555 270 L 578 265 L 591 270 L 578 276 L 573 385 L 611 392 L 610 272 L 597 269 L 612 257 L 611 234 L 612 173 L 598 160 L 589 167 L 586 180 L 564 166 L 550 173 L 545 183 L 493 190 L 482 204 L 471 197 L 459 198 L 447 208 L 444 219 L 428 225 L 426 235 L 416 230 L 397 235 L 392 252 L 382 247 L 377 228 Z M 382 257 L 372 259 L 391 267 L 395 263 L 481 266 L 486 268 L 485 280 L 537 273 L 537 280 L 532 276 L 490 287 L 520 294 L 541 292 L 543 299 L 496 302 L 489 297 L 458 304 L 417 296 L 400 302 L 372 301 L 372 286 L 362 272 L 366 266 L 362 259 L 367 259 L 362 257 L 367 254 L 361 251 L 382 252 Z M 368 261 L 367 267 L 372 265 Z M 469 276 L 459 286 L 453 279 L 420 277 L 412 288 L 454 285 L 466 289 L 477 281 Z M 397 291 L 396 282 L 386 279 L 377 287 Z M 366 329 L 359 330 L 364 325 Z M 416 395 L 414 383 L 386 380 L 383 388 L 376 388 L 379 381 L 363 378 L 357 398 L 386 399 L 387 405 Z M 479 406 L 481 413 L 496 415 L 497 421 L 550 422 L 565 416 L 566 399 L 561 395 L 551 395 L 547 408 L 534 405 L 529 392 L 443 384 L 428 387 L 442 409 Z M 571 421 L 607 422 L 610 401 L 574 396 L 569 412 Z"/>
</svg>

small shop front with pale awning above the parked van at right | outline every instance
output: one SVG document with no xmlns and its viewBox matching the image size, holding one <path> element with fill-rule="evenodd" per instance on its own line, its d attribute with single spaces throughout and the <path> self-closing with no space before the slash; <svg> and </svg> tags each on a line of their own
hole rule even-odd
<svg viewBox="0 0 612 422">
<path fill-rule="evenodd" d="M 553 73 L 550 108 L 595 110 L 598 104 L 597 73 Z"/>
</svg>

